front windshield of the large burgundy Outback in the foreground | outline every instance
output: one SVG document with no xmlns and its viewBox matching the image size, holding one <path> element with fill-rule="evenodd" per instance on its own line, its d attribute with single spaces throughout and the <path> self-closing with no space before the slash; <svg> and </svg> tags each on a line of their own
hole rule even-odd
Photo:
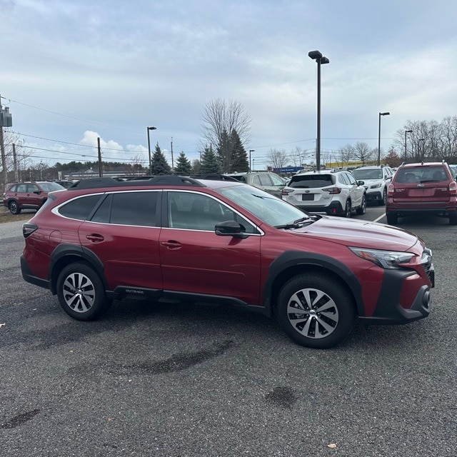
<svg viewBox="0 0 457 457">
<path fill-rule="evenodd" d="M 253 186 L 230 186 L 217 191 L 271 226 L 291 224 L 308 215 L 278 197 Z"/>
</svg>

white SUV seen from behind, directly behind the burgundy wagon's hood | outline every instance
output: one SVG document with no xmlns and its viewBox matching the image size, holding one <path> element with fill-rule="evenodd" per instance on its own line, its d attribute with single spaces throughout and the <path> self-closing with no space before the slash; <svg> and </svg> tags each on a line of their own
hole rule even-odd
<svg viewBox="0 0 457 457">
<path fill-rule="evenodd" d="M 304 211 L 351 217 L 365 214 L 366 192 L 348 171 L 307 171 L 291 177 L 282 198 Z"/>
</svg>

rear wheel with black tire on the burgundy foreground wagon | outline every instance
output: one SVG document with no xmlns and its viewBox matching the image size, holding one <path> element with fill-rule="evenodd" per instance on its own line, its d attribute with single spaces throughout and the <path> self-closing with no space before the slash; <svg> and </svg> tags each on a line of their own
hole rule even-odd
<svg viewBox="0 0 457 457">
<path fill-rule="evenodd" d="M 57 279 L 57 296 L 64 311 L 78 321 L 92 321 L 111 306 L 94 268 L 86 263 L 70 263 Z"/>
</svg>

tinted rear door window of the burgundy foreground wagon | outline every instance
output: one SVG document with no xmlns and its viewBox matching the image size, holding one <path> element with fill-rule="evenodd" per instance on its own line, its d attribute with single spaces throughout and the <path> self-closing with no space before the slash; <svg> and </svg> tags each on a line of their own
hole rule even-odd
<svg viewBox="0 0 457 457">
<path fill-rule="evenodd" d="M 156 226 L 159 192 L 119 192 L 112 195 L 111 224 Z"/>
</svg>

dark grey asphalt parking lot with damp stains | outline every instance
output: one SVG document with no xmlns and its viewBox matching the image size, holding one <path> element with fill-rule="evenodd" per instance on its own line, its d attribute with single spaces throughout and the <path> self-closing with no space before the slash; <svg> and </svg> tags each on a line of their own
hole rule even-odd
<svg viewBox="0 0 457 457">
<path fill-rule="evenodd" d="M 0 456 L 456 457 L 457 227 L 399 226 L 433 251 L 431 315 L 318 351 L 226 308 L 74 321 L 22 280 L 21 223 L 0 224 Z"/>
</svg>

